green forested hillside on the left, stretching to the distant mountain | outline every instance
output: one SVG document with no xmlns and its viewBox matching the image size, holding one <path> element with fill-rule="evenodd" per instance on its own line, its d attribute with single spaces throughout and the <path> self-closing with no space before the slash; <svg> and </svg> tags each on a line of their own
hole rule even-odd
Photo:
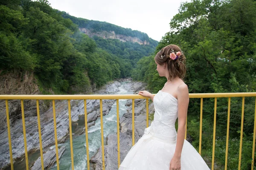
<svg viewBox="0 0 256 170">
<path fill-rule="evenodd" d="M 104 25 L 108 28 L 105 31 L 139 36 L 153 44 L 101 37 L 93 40 L 79 31 L 81 23 L 76 20 L 96 23 L 90 27 L 94 31 L 101 31 L 97 26 Z M 43 94 L 49 93 L 47 89 L 55 94 L 88 92 L 91 86 L 100 87 L 113 79 L 131 77 L 136 62 L 154 53 L 156 45 L 157 41 L 145 33 L 72 17 L 53 9 L 47 0 L 0 2 L 1 74 L 11 70 L 31 71 Z"/>
</svg>

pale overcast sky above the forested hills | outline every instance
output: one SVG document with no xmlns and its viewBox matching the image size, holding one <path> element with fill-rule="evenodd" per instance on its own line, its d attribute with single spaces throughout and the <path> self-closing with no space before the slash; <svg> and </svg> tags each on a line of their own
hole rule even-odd
<svg viewBox="0 0 256 170">
<path fill-rule="evenodd" d="M 180 3 L 190 0 L 48 0 L 52 8 L 88 20 L 145 32 L 160 41 Z"/>
</svg>

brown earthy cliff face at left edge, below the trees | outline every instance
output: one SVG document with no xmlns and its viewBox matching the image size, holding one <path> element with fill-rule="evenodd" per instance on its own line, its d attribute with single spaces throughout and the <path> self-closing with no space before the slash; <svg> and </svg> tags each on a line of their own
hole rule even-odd
<svg viewBox="0 0 256 170">
<path fill-rule="evenodd" d="M 12 71 L 3 74 L 0 70 L 0 95 L 3 94 L 41 94 L 38 88 L 37 80 L 34 74 L 29 71 Z M 21 119 L 20 100 L 8 100 L 10 124 L 15 120 Z M 46 106 L 39 100 L 40 112 L 46 109 Z M 37 115 L 36 101 L 24 100 L 24 113 L 26 116 Z M 0 100 L 0 130 L 6 128 L 6 103 Z"/>
</svg>

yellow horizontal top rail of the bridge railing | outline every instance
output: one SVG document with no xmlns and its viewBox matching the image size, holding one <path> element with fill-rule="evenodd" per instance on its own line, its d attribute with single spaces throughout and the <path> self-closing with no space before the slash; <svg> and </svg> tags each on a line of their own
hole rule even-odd
<svg viewBox="0 0 256 170">
<path fill-rule="evenodd" d="M 215 97 L 256 97 L 252 93 L 198 93 L 189 94 L 189 98 L 215 98 Z M 0 99 L 38 99 L 38 100 L 71 100 L 71 99 L 148 99 L 139 94 L 96 94 L 96 95 L 0 95 Z"/>
</svg>

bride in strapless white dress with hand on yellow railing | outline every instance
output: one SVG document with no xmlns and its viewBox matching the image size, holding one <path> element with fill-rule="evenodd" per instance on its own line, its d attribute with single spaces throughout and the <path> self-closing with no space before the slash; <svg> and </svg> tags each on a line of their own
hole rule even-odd
<svg viewBox="0 0 256 170">
<path fill-rule="evenodd" d="M 186 58 L 177 45 L 168 45 L 154 59 L 159 76 L 166 77 L 167 82 L 155 96 L 148 91 L 139 92 L 153 101 L 154 120 L 119 170 L 209 170 L 195 148 L 184 140 L 189 105 L 188 87 L 182 80 Z"/>
</svg>

